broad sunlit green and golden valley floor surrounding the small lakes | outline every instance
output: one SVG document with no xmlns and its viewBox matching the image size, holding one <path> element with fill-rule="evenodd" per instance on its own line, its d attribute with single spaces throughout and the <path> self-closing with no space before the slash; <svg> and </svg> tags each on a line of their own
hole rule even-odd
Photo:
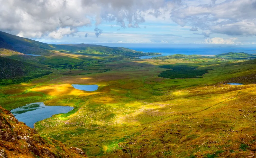
<svg viewBox="0 0 256 158">
<path fill-rule="evenodd" d="M 75 107 L 36 123 L 43 137 L 79 147 L 89 157 L 255 155 L 256 60 L 237 54 L 153 59 L 46 54 L 28 62 L 42 61 L 52 73 L 0 87 L 0 105 L 7 110 L 35 102 Z M 86 62 L 72 67 L 56 60 Z M 245 85 L 224 84 L 231 81 Z M 81 91 L 72 84 L 99 89 Z"/>
</svg>

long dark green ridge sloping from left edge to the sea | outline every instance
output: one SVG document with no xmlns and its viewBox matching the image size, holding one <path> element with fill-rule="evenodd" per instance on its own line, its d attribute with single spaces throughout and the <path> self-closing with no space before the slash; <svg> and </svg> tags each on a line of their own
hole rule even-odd
<svg viewBox="0 0 256 158">
<path fill-rule="evenodd" d="M 118 55 L 125 56 L 127 58 L 146 56 L 150 53 L 136 52 L 127 48 L 118 47 L 106 47 L 101 45 L 90 45 L 90 44 L 47 44 L 38 41 L 34 41 L 27 38 L 11 35 L 0 31 L 0 37 L 8 44 L 11 45 L 16 51 L 24 54 L 45 54 L 49 51 L 60 51 L 60 52 L 72 52 L 79 54 L 103 54 L 109 55 L 115 58 Z M 1 46 L 1 45 L 0 45 Z M 0 47 L 3 48 L 3 47 Z M 151 53 L 152 54 L 152 53 Z M 117 58 L 117 57 L 116 57 Z"/>
</svg>

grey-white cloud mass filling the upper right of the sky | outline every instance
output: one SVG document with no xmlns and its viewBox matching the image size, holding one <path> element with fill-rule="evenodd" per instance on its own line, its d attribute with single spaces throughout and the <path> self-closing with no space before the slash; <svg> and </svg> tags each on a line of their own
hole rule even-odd
<svg viewBox="0 0 256 158">
<path fill-rule="evenodd" d="M 181 26 L 188 24 L 226 35 L 256 35 L 256 0 L 184 0 L 183 3 L 170 12 L 170 18 Z"/>
</svg>

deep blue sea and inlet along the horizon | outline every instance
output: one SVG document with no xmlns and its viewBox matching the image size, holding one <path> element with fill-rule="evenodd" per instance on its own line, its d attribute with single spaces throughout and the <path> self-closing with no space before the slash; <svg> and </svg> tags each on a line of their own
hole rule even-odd
<svg viewBox="0 0 256 158">
<path fill-rule="evenodd" d="M 129 47 L 130 48 L 130 47 Z M 161 53 L 157 56 L 167 56 L 174 54 L 184 55 L 217 55 L 222 53 L 234 52 L 234 53 L 248 53 L 256 54 L 256 48 L 245 48 L 245 47 L 204 47 L 204 48 L 130 48 L 136 51 L 146 53 Z M 156 56 L 145 56 L 140 57 L 141 59 L 148 59 Z"/>
</svg>

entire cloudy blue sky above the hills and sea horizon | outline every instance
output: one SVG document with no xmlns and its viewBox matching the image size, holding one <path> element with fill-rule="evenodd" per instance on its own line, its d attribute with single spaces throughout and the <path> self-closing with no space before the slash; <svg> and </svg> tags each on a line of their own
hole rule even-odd
<svg viewBox="0 0 256 158">
<path fill-rule="evenodd" d="M 256 0 L 0 0 L 0 31 L 40 42 L 256 46 Z"/>
</svg>

